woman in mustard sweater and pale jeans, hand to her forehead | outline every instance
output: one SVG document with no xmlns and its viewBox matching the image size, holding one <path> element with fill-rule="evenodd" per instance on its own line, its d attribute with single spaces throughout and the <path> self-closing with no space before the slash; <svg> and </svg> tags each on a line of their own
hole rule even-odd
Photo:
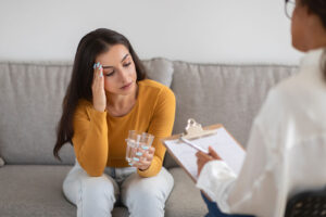
<svg viewBox="0 0 326 217">
<path fill-rule="evenodd" d="M 146 79 L 123 35 L 102 28 L 80 40 L 53 150 L 59 157 L 64 143 L 74 146 L 76 164 L 63 192 L 77 206 L 77 216 L 111 216 L 115 201 L 130 216 L 164 216 L 174 180 L 162 167 L 160 139 L 171 135 L 174 117 L 174 93 Z M 136 167 L 125 161 L 129 130 L 155 137 Z"/>
</svg>

